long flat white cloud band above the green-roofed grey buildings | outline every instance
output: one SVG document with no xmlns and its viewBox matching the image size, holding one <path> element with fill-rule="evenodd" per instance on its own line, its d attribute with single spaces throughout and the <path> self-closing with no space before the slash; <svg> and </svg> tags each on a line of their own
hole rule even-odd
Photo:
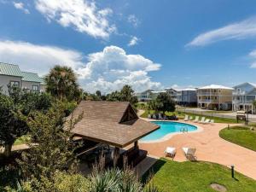
<svg viewBox="0 0 256 192">
<path fill-rule="evenodd" d="M 56 64 L 73 68 L 83 65 L 83 55 L 78 51 L 15 41 L 0 41 L 0 58 L 18 64 L 23 71 L 40 75 L 48 73 Z"/>
</svg>

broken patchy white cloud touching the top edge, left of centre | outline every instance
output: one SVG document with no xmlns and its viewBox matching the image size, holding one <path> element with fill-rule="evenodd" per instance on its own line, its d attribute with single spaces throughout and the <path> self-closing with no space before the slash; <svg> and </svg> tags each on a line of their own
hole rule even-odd
<svg viewBox="0 0 256 192">
<path fill-rule="evenodd" d="M 90 0 L 35 0 L 36 9 L 47 20 L 56 20 L 61 26 L 73 26 L 75 30 L 94 38 L 108 38 L 116 31 L 108 22 L 112 9 L 98 9 Z"/>
</svg>

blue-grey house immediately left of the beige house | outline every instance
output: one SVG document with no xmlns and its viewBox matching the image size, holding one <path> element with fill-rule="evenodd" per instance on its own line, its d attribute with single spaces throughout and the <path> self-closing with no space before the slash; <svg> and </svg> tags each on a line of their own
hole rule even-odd
<svg viewBox="0 0 256 192">
<path fill-rule="evenodd" d="M 177 104 L 183 106 L 196 106 L 196 90 L 192 88 L 177 90 Z"/>
</svg>

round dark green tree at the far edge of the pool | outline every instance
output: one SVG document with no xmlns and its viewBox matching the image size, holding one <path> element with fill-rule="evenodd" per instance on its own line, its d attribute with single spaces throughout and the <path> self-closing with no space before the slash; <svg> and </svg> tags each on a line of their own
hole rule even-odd
<svg viewBox="0 0 256 192">
<path fill-rule="evenodd" d="M 160 95 L 156 97 L 155 101 L 161 103 L 159 110 L 163 113 L 175 111 L 175 102 L 168 93 L 160 93 Z"/>
</svg>

